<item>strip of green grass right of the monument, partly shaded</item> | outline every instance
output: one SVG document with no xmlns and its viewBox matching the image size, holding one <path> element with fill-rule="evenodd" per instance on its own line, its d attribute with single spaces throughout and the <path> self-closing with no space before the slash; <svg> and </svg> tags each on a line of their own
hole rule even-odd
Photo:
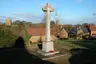
<svg viewBox="0 0 96 64">
<path fill-rule="evenodd" d="M 96 49 L 96 40 L 57 40 L 55 45 L 58 47 L 69 47 L 71 48 L 88 48 Z"/>
</svg>

